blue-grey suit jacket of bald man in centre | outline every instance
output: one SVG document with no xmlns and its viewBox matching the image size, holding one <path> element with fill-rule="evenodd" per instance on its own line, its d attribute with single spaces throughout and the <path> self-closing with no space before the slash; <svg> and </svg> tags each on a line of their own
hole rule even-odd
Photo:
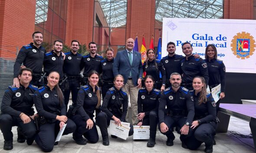
<svg viewBox="0 0 256 153">
<path fill-rule="evenodd" d="M 125 78 L 125 83 L 127 83 L 130 71 L 132 76 L 132 83 L 135 86 L 138 86 L 138 78 L 142 78 L 143 73 L 141 53 L 138 51 L 133 51 L 133 60 L 132 64 L 130 64 L 127 51 L 118 51 L 113 64 L 114 76 L 121 74 Z"/>
</svg>

